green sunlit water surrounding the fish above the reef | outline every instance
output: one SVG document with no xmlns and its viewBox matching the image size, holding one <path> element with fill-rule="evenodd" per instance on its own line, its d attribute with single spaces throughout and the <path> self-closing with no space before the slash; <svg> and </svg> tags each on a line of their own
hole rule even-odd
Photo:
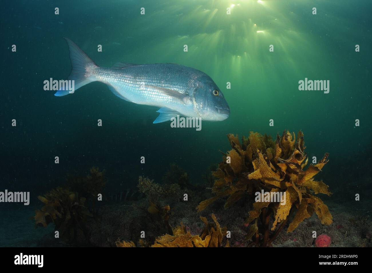
<svg viewBox="0 0 372 273">
<path fill-rule="evenodd" d="M 230 149 L 226 134 L 302 130 L 310 157 L 330 153 L 328 176 L 322 174 L 327 184 L 357 184 L 358 168 L 371 159 L 371 6 L 363 0 L 3 1 L 2 183 L 36 196 L 67 173 L 97 165 L 117 190 L 139 175 L 159 181 L 172 162 L 203 183 L 208 166 L 221 160 L 218 150 Z M 98 82 L 55 97 L 43 81 L 70 73 L 62 37 L 100 66 L 124 61 L 199 69 L 224 92 L 230 117 L 203 122 L 201 131 L 152 124 L 157 108 L 130 104 Z M 329 93 L 299 91 L 305 78 L 329 80 Z"/>
</svg>

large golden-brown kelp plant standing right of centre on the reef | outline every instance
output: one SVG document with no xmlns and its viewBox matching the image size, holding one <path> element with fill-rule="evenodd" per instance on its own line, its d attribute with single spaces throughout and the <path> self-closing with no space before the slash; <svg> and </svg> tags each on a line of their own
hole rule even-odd
<svg viewBox="0 0 372 273">
<path fill-rule="evenodd" d="M 211 199 L 202 201 L 196 209 L 204 210 L 215 200 L 229 196 L 225 209 L 241 199 L 247 193 L 251 196 L 262 196 L 261 200 L 253 203 L 253 209 L 245 225 L 251 226 L 247 239 L 253 236 L 253 244 L 262 247 L 270 246 L 278 233 L 286 225 L 289 216 L 297 210 L 287 232 L 293 231 L 299 223 L 316 213 L 322 224 L 330 225 L 332 216 L 328 207 L 314 194 L 331 195 L 328 186 L 323 181 L 313 179 L 328 162 L 328 153 L 317 164 L 305 170 L 308 158 L 304 152 L 304 135 L 302 131 L 295 134 L 284 131 L 274 142 L 266 134 L 250 133 L 248 138 L 243 136 L 242 143 L 238 136 L 227 135 L 232 149 L 224 153 L 224 160 L 219 163 L 212 192 L 216 194 Z M 306 159 L 306 160 L 305 160 Z M 262 194 L 264 191 L 267 194 Z M 279 198 L 271 201 L 270 196 L 278 196 L 285 192 L 285 204 L 281 205 Z M 283 194 L 284 196 L 284 194 Z M 273 215 L 270 236 L 270 216 Z M 260 225 L 257 223 L 260 219 Z M 279 227 L 277 225 L 280 223 Z M 260 236 L 261 235 L 261 236 Z"/>
</svg>

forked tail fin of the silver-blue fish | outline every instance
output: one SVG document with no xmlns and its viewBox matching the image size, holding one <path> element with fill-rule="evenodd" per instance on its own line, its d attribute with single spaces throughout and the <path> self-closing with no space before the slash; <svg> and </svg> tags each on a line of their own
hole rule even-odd
<svg viewBox="0 0 372 273">
<path fill-rule="evenodd" d="M 68 76 L 67 79 L 74 81 L 74 89 L 72 91 L 60 89 L 54 94 L 55 96 L 68 95 L 69 93 L 73 93 L 81 86 L 95 81 L 92 79 L 88 79 L 86 77 L 86 73 L 87 71 L 89 71 L 89 69 L 97 67 L 97 65 L 73 41 L 71 41 L 68 38 L 64 39 L 67 41 L 68 44 L 68 50 L 70 51 L 70 60 L 72 66 L 70 76 Z"/>
</svg>

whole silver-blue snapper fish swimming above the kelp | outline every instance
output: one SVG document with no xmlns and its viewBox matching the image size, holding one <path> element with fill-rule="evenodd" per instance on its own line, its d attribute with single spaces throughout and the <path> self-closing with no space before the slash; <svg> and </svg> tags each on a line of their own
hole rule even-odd
<svg viewBox="0 0 372 273">
<path fill-rule="evenodd" d="M 177 115 L 222 121 L 230 108 L 221 90 L 207 74 L 179 64 L 132 64 L 118 62 L 113 67 L 97 66 L 73 41 L 67 41 L 75 90 L 90 82 L 103 82 L 121 99 L 135 104 L 160 107 L 153 123 Z M 74 91 L 58 90 L 55 96 Z"/>
</svg>

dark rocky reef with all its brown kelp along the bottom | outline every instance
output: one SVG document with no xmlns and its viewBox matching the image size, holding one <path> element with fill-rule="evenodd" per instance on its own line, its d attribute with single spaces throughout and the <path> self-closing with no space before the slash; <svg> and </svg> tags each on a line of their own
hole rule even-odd
<svg viewBox="0 0 372 273">
<path fill-rule="evenodd" d="M 120 194 L 113 202 L 103 194 L 97 204 L 107 180 L 92 168 L 86 177 L 69 177 L 64 187 L 39 196 L 44 207 L 36 211 L 36 225 L 54 223 L 67 244 L 98 247 L 372 245 L 371 220 L 339 209 L 328 186 L 315 178 L 328 153 L 308 164 L 301 131 L 284 131 L 275 140 L 254 132 L 241 140 L 227 137 L 231 149 L 201 175 L 204 184 L 171 164 L 160 181 L 140 176 L 131 189 L 135 199 Z M 331 241 L 320 244 L 314 231 Z M 53 241 L 54 234 L 46 237 Z"/>
</svg>

